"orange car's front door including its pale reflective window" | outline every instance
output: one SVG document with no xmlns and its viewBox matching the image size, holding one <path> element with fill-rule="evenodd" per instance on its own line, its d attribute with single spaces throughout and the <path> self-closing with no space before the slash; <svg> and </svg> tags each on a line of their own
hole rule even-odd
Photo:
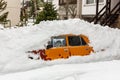
<svg viewBox="0 0 120 80">
<path fill-rule="evenodd" d="M 66 43 L 66 37 L 55 37 L 52 40 L 53 48 L 46 50 L 47 58 L 58 59 L 58 58 L 68 58 L 69 49 Z"/>
</svg>

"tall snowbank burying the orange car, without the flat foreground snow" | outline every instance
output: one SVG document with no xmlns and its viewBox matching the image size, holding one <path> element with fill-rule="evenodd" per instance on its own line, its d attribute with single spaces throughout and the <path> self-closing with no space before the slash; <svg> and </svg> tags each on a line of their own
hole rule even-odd
<svg viewBox="0 0 120 80">
<path fill-rule="evenodd" d="M 30 60 L 27 51 L 44 48 L 51 36 L 85 34 L 96 53 L 54 61 Z M 20 28 L 0 28 L 0 74 L 26 71 L 54 64 L 75 64 L 120 59 L 120 30 L 79 19 L 43 21 Z M 102 51 L 103 50 L 103 51 Z"/>
</svg>

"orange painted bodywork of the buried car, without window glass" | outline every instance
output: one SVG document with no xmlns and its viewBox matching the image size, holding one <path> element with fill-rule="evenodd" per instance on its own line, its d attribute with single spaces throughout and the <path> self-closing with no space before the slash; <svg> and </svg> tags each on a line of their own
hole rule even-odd
<svg viewBox="0 0 120 80">
<path fill-rule="evenodd" d="M 75 36 L 75 37 L 81 37 L 84 41 L 84 44 L 77 45 L 77 46 L 71 46 L 69 43 L 69 36 Z M 53 46 L 50 49 L 45 50 L 45 55 L 47 60 L 54 60 L 59 58 L 68 58 L 70 56 L 85 56 L 89 55 L 91 52 L 93 52 L 93 47 L 89 46 L 89 39 L 85 35 L 60 35 L 59 37 L 65 37 L 65 45 L 55 47 Z M 52 37 L 54 38 L 54 37 Z"/>
</svg>

